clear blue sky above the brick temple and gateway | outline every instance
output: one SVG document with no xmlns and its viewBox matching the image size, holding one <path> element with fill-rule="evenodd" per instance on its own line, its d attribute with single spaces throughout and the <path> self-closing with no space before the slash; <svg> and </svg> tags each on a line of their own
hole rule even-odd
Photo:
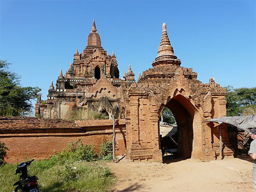
<svg viewBox="0 0 256 192">
<path fill-rule="evenodd" d="M 0 59 L 12 63 L 22 86 L 39 86 L 46 99 L 86 47 L 95 18 L 102 47 L 118 60 L 120 77 L 129 64 L 151 68 L 163 22 L 181 66 L 197 79 L 221 86 L 256 86 L 255 1 L 3 1 Z"/>
</svg>

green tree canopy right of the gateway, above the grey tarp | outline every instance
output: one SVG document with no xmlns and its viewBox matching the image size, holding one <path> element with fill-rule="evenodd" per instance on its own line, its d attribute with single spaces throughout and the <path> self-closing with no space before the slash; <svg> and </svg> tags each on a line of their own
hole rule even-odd
<svg viewBox="0 0 256 192">
<path fill-rule="evenodd" d="M 256 87 L 226 87 L 227 116 L 256 115 Z"/>
</svg>

